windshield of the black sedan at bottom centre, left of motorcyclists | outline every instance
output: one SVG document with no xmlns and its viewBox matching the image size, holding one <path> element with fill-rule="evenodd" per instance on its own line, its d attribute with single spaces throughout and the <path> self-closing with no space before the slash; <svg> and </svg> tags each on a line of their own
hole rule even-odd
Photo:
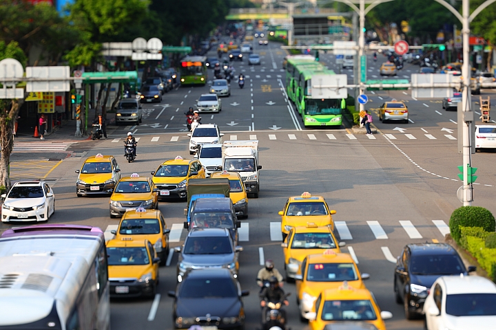
<svg viewBox="0 0 496 330">
<path fill-rule="evenodd" d="M 186 278 L 180 298 L 236 298 L 238 289 L 228 278 Z"/>
</svg>

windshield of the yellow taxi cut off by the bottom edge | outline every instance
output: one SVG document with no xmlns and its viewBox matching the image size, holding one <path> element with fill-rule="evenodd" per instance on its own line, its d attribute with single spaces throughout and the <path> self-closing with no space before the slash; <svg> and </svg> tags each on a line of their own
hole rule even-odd
<svg viewBox="0 0 496 330">
<path fill-rule="evenodd" d="M 322 320 L 377 320 L 370 300 L 326 300 Z"/>
</svg>

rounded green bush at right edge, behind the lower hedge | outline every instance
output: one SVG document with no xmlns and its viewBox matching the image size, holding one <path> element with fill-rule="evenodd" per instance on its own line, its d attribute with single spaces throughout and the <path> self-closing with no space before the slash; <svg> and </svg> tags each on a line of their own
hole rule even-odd
<svg viewBox="0 0 496 330">
<path fill-rule="evenodd" d="M 453 211 L 449 222 L 451 237 L 459 244 L 461 244 L 460 226 L 481 227 L 486 232 L 495 232 L 496 223 L 493 214 L 486 208 L 462 206 Z"/>
</svg>

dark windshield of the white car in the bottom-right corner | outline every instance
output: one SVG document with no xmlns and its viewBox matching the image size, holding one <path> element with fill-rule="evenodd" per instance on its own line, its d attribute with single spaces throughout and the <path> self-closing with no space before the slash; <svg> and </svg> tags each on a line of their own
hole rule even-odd
<svg viewBox="0 0 496 330">
<path fill-rule="evenodd" d="M 496 294 L 448 294 L 446 314 L 453 316 L 496 316 Z"/>
</svg>

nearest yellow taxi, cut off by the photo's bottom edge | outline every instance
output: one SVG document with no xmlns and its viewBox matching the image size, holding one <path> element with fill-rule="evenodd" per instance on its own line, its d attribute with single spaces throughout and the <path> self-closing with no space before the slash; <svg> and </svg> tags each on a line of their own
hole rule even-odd
<svg viewBox="0 0 496 330">
<path fill-rule="evenodd" d="M 391 312 L 379 309 L 369 290 L 356 289 L 346 281 L 338 288 L 324 290 L 316 300 L 315 310 L 307 313 L 311 330 L 349 322 L 364 322 L 374 325 L 375 329 L 386 330 L 384 320 L 393 317 Z"/>
</svg>

